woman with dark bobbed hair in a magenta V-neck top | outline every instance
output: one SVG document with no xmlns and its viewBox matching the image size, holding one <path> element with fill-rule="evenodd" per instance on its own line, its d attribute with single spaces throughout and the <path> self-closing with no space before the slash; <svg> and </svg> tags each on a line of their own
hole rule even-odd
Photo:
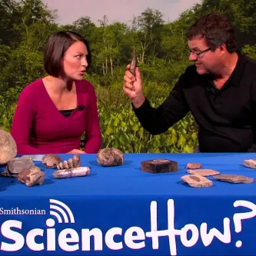
<svg viewBox="0 0 256 256">
<path fill-rule="evenodd" d="M 85 154 L 101 148 L 97 98 L 83 79 L 91 65 L 88 42 L 75 32 L 56 32 L 48 40 L 48 76 L 27 85 L 18 99 L 11 134 L 18 154 Z M 85 132 L 85 151 L 80 150 Z"/>
</svg>

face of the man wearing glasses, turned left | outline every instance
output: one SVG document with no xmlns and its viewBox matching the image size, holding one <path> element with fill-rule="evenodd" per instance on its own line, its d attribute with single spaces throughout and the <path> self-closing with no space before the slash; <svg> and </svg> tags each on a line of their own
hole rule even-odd
<svg viewBox="0 0 256 256">
<path fill-rule="evenodd" d="M 201 36 L 195 36 L 188 41 L 190 48 L 189 61 L 194 62 L 199 75 L 214 73 L 218 70 L 220 59 L 218 51 L 212 52 L 208 47 L 207 42 Z"/>
</svg>

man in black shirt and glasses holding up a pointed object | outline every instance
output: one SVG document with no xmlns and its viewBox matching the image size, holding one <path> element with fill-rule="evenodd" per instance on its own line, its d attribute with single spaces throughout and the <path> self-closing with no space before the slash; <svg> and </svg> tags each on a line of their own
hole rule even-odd
<svg viewBox="0 0 256 256">
<path fill-rule="evenodd" d="M 141 125 L 158 135 L 188 111 L 198 124 L 201 152 L 256 151 L 256 64 L 236 50 L 228 18 L 211 13 L 189 28 L 189 66 L 168 98 L 152 108 L 139 68 L 125 71 L 123 91 Z"/>
</svg>

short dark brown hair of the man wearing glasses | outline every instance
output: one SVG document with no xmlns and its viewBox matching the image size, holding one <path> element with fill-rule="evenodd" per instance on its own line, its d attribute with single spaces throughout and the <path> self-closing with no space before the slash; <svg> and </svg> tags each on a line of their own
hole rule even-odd
<svg viewBox="0 0 256 256">
<path fill-rule="evenodd" d="M 232 53 L 237 49 L 237 40 L 231 22 L 224 15 L 218 12 L 211 12 L 204 15 L 188 29 L 187 38 L 194 36 L 205 38 L 211 50 L 225 44 L 227 51 Z"/>
</svg>

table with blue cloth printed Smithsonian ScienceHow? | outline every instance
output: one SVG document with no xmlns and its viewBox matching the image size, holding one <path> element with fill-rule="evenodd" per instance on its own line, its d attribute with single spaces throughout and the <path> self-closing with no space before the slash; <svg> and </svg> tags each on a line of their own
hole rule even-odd
<svg viewBox="0 0 256 256">
<path fill-rule="evenodd" d="M 104 168 L 96 155 L 81 155 L 91 175 L 61 180 L 35 162 L 45 171 L 43 185 L 0 178 L 0 254 L 253 255 L 256 182 L 211 177 L 213 187 L 191 188 L 181 176 L 188 162 L 200 162 L 256 181 L 256 170 L 243 166 L 255 156 L 125 154 L 124 165 Z M 141 171 L 141 161 L 155 158 L 178 161 L 178 172 Z"/>
</svg>

